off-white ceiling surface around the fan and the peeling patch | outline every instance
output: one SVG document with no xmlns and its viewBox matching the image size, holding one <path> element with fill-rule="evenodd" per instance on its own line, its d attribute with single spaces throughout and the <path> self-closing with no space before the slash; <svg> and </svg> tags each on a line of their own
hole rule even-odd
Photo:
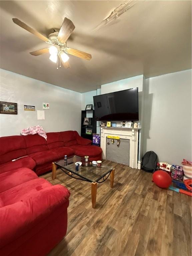
<svg viewBox="0 0 192 256">
<path fill-rule="evenodd" d="M 144 74 L 146 78 L 191 68 L 191 1 L 135 1 L 115 22 L 94 31 L 122 1 L 0 1 L 1 68 L 78 92 Z M 69 55 L 56 69 L 47 44 L 13 23 L 18 18 L 45 36 L 64 17 L 76 26 L 67 46 L 92 54 Z"/>
</svg>

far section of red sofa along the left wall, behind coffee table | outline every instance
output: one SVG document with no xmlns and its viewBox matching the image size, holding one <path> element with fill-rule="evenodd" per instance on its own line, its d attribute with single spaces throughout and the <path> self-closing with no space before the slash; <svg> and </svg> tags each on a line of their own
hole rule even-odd
<svg viewBox="0 0 192 256">
<path fill-rule="evenodd" d="M 37 134 L 1 137 L 0 173 L 28 167 L 40 175 L 50 171 L 52 162 L 64 158 L 64 155 L 88 155 L 90 161 L 101 160 L 102 149 L 91 143 L 77 131 L 49 132 L 47 140 Z"/>
</svg>

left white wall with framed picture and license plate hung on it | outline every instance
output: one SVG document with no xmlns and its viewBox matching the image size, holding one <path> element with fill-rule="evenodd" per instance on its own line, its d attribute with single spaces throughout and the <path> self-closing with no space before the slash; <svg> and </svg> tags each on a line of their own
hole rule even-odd
<svg viewBox="0 0 192 256">
<path fill-rule="evenodd" d="M 0 136 L 19 135 L 23 128 L 42 125 L 46 132 L 77 130 L 81 126 L 81 93 L 0 69 L 1 101 L 18 103 L 18 115 L 0 114 Z M 50 104 L 45 120 L 37 120 L 43 102 Z M 36 111 L 24 111 L 33 105 Z"/>
</svg>

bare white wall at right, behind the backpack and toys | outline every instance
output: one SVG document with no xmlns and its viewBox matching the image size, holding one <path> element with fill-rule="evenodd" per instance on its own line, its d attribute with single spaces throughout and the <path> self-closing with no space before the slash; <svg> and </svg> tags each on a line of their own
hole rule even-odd
<svg viewBox="0 0 192 256">
<path fill-rule="evenodd" d="M 191 70 L 146 79 L 143 152 L 160 161 L 192 160 Z"/>
</svg>

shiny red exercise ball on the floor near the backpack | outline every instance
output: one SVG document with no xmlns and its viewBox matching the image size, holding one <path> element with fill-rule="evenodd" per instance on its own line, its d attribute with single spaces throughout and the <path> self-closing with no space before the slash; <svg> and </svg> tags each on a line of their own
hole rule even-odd
<svg viewBox="0 0 192 256">
<path fill-rule="evenodd" d="M 153 182 L 160 188 L 168 188 L 172 179 L 167 172 L 159 170 L 153 173 Z"/>
</svg>

